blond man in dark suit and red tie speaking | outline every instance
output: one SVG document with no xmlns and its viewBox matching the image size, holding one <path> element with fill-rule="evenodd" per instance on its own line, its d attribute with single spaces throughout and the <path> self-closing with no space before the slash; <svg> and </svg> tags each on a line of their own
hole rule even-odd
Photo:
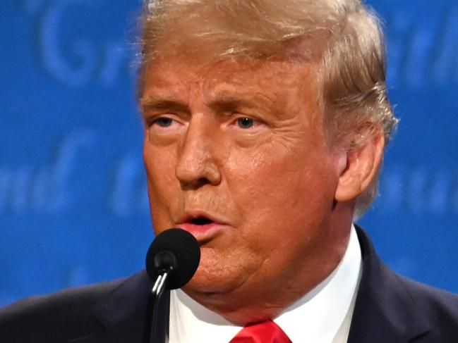
<svg viewBox="0 0 458 343">
<path fill-rule="evenodd" d="M 142 44 L 152 224 L 201 251 L 162 308 L 169 342 L 458 341 L 458 298 L 392 273 L 352 224 L 397 122 L 375 15 L 357 0 L 163 0 Z M 0 333 L 142 342 L 150 287 L 140 273 L 25 300 Z"/>
</svg>

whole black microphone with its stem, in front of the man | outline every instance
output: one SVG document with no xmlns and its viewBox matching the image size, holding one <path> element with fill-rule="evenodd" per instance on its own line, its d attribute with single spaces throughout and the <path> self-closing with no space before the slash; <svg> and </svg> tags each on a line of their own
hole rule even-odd
<svg viewBox="0 0 458 343">
<path fill-rule="evenodd" d="M 164 343 L 169 325 L 169 308 L 159 317 L 159 303 L 164 289 L 177 289 L 191 280 L 200 262 L 200 247 L 189 232 L 171 228 L 161 232 L 152 241 L 146 254 L 146 272 L 153 283 L 145 331 L 145 342 Z M 149 329 L 149 330 L 148 330 Z"/>
</svg>

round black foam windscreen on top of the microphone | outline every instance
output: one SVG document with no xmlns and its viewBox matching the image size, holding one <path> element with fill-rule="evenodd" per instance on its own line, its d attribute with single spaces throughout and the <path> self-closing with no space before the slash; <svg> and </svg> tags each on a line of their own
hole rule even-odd
<svg viewBox="0 0 458 343">
<path fill-rule="evenodd" d="M 167 288 L 176 289 L 191 280 L 200 262 L 197 240 L 183 229 L 161 232 L 152 241 L 146 255 L 146 271 L 155 280 L 161 269 L 170 270 Z"/>
</svg>

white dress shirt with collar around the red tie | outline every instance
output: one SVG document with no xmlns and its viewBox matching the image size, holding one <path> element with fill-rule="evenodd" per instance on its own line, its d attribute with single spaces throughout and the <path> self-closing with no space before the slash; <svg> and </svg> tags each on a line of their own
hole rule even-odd
<svg viewBox="0 0 458 343">
<path fill-rule="evenodd" d="M 272 320 L 291 342 L 345 343 L 361 275 L 361 250 L 356 230 L 344 258 L 317 287 Z M 241 330 L 188 297 L 170 293 L 169 343 L 228 343 Z"/>
</svg>

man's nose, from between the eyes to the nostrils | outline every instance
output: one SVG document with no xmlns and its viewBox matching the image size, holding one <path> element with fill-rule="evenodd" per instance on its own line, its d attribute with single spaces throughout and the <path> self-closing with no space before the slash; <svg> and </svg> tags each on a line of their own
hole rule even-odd
<svg viewBox="0 0 458 343">
<path fill-rule="evenodd" d="M 204 118 L 193 118 L 179 147 L 175 175 L 183 189 L 218 185 L 221 173 L 216 161 L 215 131 Z"/>
</svg>

